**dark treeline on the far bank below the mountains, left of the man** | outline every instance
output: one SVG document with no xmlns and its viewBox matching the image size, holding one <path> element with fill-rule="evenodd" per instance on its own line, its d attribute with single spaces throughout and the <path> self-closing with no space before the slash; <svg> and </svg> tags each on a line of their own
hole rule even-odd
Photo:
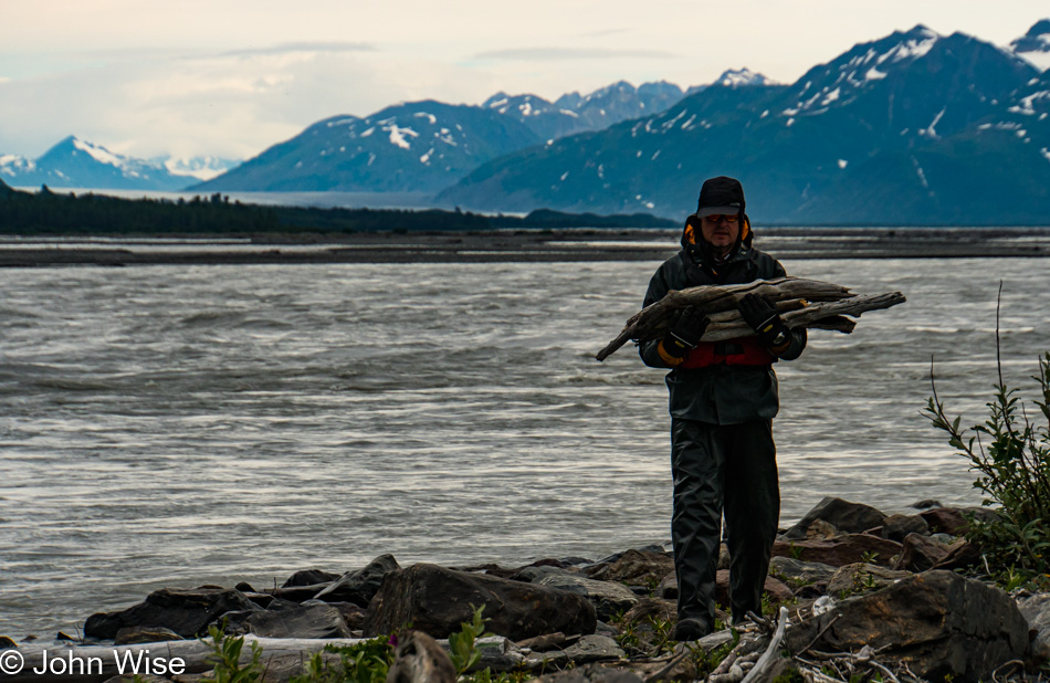
<svg viewBox="0 0 1050 683">
<path fill-rule="evenodd" d="M 46 187 L 29 193 L 0 182 L 0 233 L 20 235 L 231 235 L 380 231 L 476 231 L 495 228 L 668 228 L 649 214 L 599 217 L 534 211 L 528 217 L 396 209 L 318 209 L 231 202 L 229 197 L 118 199 L 59 195 Z"/>
</svg>

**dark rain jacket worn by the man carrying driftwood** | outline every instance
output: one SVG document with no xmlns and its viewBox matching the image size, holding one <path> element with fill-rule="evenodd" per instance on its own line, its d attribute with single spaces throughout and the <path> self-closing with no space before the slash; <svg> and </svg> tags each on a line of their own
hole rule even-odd
<svg viewBox="0 0 1050 683">
<path fill-rule="evenodd" d="M 649 282 L 644 306 L 655 303 L 671 290 L 697 285 L 745 284 L 755 280 L 784 277 L 780 263 L 750 246 L 750 240 L 737 243 L 725 263 L 715 265 L 704 249 L 685 242 L 682 251 L 668 259 Z M 645 365 L 665 368 L 657 350 L 659 339 L 639 345 Z M 791 342 L 780 358 L 798 358 L 806 347 L 806 329 L 791 330 Z M 777 376 L 773 365 L 713 365 L 699 369 L 672 369 L 666 377 L 671 392 L 670 410 L 674 418 L 710 424 L 738 424 L 770 420 L 780 409 Z"/>
</svg>

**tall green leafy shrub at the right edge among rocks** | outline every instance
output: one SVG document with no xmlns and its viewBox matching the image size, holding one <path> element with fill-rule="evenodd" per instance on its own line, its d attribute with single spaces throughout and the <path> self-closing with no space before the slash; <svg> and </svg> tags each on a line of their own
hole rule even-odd
<svg viewBox="0 0 1050 683">
<path fill-rule="evenodd" d="M 932 365 L 933 397 L 923 413 L 948 435 L 958 454 L 969 460 L 977 472 L 974 487 L 985 495 L 983 504 L 997 506 L 998 514 L 991 519 L 972 521 L 968 536 L 996 566 L 1011 567 L 1030 580 L 1050 574 L 1050 353 L 1039 359 L 1039 374 L 1032 376 L 1042 398 L 1035 404 L 1046 418 L 1043 425 L 1029 419 L 1017 389 L 1004 382 L 998 329 L 996 337 L 999 382 L 986 404 L 988 418 L 970 429 L 959 428 L 962 417 L 948 418 L 937 396 Z"/>
</svg>

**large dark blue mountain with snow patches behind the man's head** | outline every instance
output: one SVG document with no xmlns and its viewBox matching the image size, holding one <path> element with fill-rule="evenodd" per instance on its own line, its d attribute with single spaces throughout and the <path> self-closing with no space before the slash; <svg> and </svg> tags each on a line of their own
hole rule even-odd
<svg viewBox="0 0 1050 683">
<path fill-rule="evenodd" d="M 1012 52 L 918 25 L 791 85 L 718 83 L 661 114 L 497 159 L 439 200 L 683 217 L 705 178 L 727 174 L 764 222 L 1041 224 L 1048 91 Z"/>
</svg>

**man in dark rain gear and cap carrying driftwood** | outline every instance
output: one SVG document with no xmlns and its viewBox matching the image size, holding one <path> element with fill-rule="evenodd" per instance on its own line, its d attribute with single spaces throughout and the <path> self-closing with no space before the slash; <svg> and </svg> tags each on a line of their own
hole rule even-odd
<svg viewBox="0 0 1050 683">
<path fill-rule="evenodd" d="M 744 188 L 720 176 L 704 182 L 682 251 L 649 283 L 644 305 L 671 290 L 783 277 L 784 266 L 752 248 Z M 733 622 L 762 611 L 780 514 L 773 418 L 779 410 L 773 364 L 798 358 L 806 330 L 789 329 L 776 308 L 749 294 L 741 315 L 755 336 L 701 342 L 710 321 L 690 306 L 662 338 L 640 345 L 645 365 L 671 368 L 671 536 L 679 584 L 673 638 L 696 640 L 714 628 L 715 575 L 726 521 Z"/>
</svg>

